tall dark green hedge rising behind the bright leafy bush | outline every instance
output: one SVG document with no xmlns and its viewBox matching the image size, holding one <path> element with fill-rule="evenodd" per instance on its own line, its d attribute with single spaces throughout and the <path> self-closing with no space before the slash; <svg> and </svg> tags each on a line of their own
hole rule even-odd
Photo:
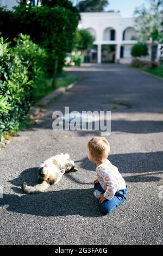
<svg viewBox="0 0 163 256">
<path fill-rule="evenodd" d="M 15 7 L 15 11 L 0 8 L 0 31 L 11 41 L 18 34 L 28 34 L 30 38 L 48 52 L 48 70 L 53 72 L 54 60 L 58 57 L 59 71 L 64 65 L 67 52 L 73 48 L 73 38 L 80 20 L 77 9 L 48 6 Z"/>
</svg>

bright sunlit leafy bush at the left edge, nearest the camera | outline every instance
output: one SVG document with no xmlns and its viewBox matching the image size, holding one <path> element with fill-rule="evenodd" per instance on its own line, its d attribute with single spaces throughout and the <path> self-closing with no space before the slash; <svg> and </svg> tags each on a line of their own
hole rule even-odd
<svg viewBox="0 0 163 256">
<path fill-rule="evenodd" d="M 46 52 L 20 35 L 15 47 L 0 39 L 0 139 L 3 134 L 18 131 L 32 102 L 32 89 L 46 61 Z M 29 50 L 30 47 L 30 50 Z"/>
</svg>

